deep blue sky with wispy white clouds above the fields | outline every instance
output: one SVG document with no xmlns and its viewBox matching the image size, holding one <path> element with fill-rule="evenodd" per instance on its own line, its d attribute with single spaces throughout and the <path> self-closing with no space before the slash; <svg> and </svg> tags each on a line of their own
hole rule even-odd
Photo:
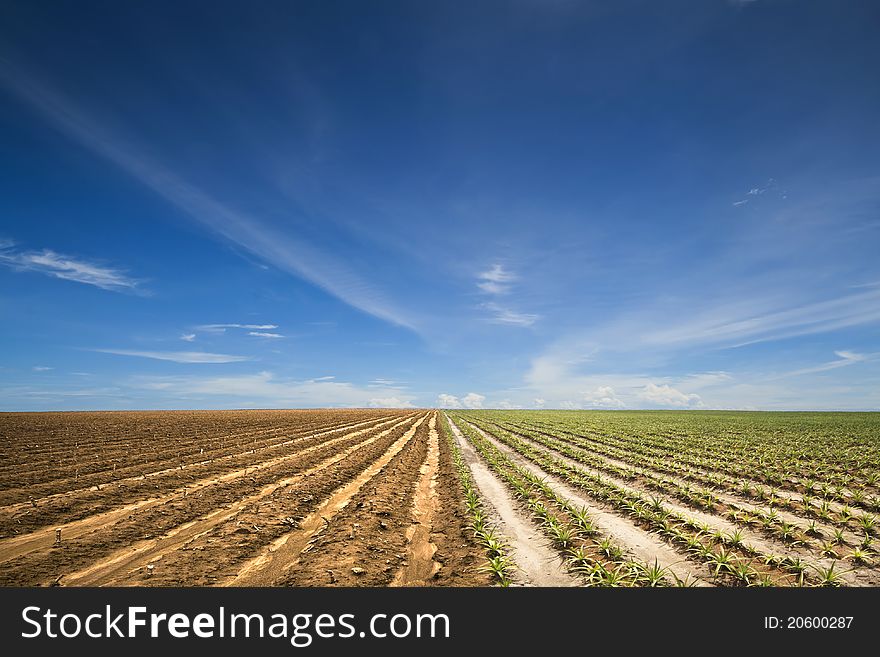
<svg viewBox="0 0 880 657">
<path fill-rule="evenodd" d="M 5 3 L 0 410 L 876 410 L 878 21 Z"/>
</svg>

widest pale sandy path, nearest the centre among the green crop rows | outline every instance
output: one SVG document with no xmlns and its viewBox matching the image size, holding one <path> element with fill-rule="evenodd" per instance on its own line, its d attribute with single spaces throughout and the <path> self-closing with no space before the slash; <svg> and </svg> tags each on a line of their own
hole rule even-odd
<svg viewBox="0 0 880 657">
<path fill-rule="evenodd" d="M 493 512 L 492 522 L 510 543 L 510 554 L 517 566 L 513 581 L 522 586 L 582 586 L 583 582 L 568 572 L 559 553 L 519 510 L 507 487 L 483 462 L 455 422 L 448 416 L 447 419 L 474 484 L 486 508 Z"/>
</svg>

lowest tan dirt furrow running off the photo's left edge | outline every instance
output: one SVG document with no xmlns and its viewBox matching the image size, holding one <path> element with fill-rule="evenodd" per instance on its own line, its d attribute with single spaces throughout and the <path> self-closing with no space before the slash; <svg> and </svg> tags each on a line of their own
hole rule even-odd
<svg viewBox="0 0 880 657">
<path fill-rule="evenodd" d="M 409 419 L 409 418 L 407 418 Z M 175 500 L 181 500 L 186 497 L 187 494 L 196 492 L 203 488 L 214 486 L 216 484 L 225 483 L 228 481 L 232 481 L 235 479 L 239 479 L 248 475 L 253 474 L 258 470 L 262 470 L 265 468 L 274 467 L 280 463 L 284 463 L 285 461 L 292 460 L 294 458 L 301 457 L 303 454 L 308 454 L 317 449 L 325 448 L 328 445 L 342 442 L 348 439 L 351 439 L 357 435 L 362 435 L 367 433 L 373 429 L 384 426 L 385 424 L 389 424 L 391 422 L 396 421 L 397 418 L 393 420 L 388 420 L 387 422 L 367 427 L 365 429 L 359 429 L 357 431 L 347 433 L 344 436 L 340 436 L 338 438 L 334 438 L 332 440 L 320 443 L 313 447 L 309 447 L 307 449 L 301 450 L 299 452 L 295 452 L 293 454 L 287 454 L 284 456 L 279 456 L 274 459 L 269 459 L 263 461 L 261 463 L 249 465 L 245 468 L 241 468 L 238 470 L 232 470 L 231 472 L 227 472 L 223 475 L 212 476 L 205 479 L 201 479 L 199 481 L 195 481 L 183 488 L 178 488 L 171 493 L 167 493 L 165 495 L 161 495 L 159 497 L 147 498 L 145 500 L 138 500 L 137 502 L 132 502 L 130 504 L 126 504 L 121 507 L 117 507 L 110 511 L 105 511 L 103 513 L 98 513 L 93 516 L 89 516 L 87 518 L 83 518 L 82 520 L 74 520 L 69 523 L 65 523 L 62 525 L 58 525 L 57 527 L 46 527 L 40 529 L 35 532 L 30 532 L 28 534 L 22 534 L 21 536 L 15 536 L 13 538 L 7 538 L 0 541 L 0 563 L 9 561 L 16 557 L 20 557 L 22 555 L 28 554 L 29 552 L 33 552 L 35 550 L 44 549 L 51 547 L 55 540 L 55 529 L 61 529 L 61 539 L 69 540 L 75 539 L 89 532 L 95 531 L 102 527 L 109 526 L 123 518 L 127 517 L 131 513 L 135 511 L 144 510 L 150 507 L 158 506 L 161 504 L 167 504 L 168 502 L 172 502 Z"/>
</svg>

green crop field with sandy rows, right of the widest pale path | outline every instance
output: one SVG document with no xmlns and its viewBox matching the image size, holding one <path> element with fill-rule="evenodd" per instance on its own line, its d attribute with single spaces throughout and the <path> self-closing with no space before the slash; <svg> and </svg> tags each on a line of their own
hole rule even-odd
<svg viewBox="0 0 880 657">
<path fill-rule="evenodd" d="M 448 418 L 586 584 L 880 582 L 876 413 Z"/>
</svg>

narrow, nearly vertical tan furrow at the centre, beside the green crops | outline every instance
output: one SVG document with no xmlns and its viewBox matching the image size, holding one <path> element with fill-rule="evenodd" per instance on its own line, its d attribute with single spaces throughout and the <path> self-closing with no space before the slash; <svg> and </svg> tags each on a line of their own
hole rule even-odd
<svg viewBox="0 0 880 657">
<path fill-rule="evenodd" d="M 406 530 L 406 566 L 401 568 L 391 586 L 426 586 L 440 570 L 434 561 L 437 546 L 431 542 L 434 513 L 438 498 L 437 473 L 440 469 L 440 436 L 437 433 L 437 414 L 428 424 L 428 455 L 419 469 L 419 482 L 413 500 L 413 524 Z"/>
</svg>

